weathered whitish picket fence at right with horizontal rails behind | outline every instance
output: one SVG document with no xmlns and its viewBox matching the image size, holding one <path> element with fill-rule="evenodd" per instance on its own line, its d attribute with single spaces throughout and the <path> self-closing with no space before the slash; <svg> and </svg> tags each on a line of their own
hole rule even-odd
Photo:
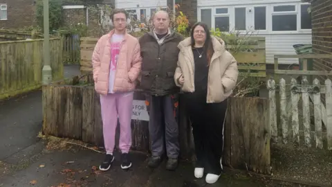
<svg viewBox="0 0 332 187">
<path fill-rule="evenodd" d="M 303 59 L 303 70 L 279 70 L 279 58 Z M 313 75 L 331 76 L 329 71 L 308 71 L 307 62 L 311 58 L 332 58 L 332 55 L 275 55 L 275 80 L 270 78 L 267 82 L 270 100 L 270 127 L 271 136 L 275 142 L 296 143 L 311 148 L 327 148 L 332 150 L 332 84 L 329 78 L 324 83 L 317 78 L 311 80 Z M 281 75 L 302 75 L 300 82 L 294 77 L 290 84 L 286 84 Z M 275 82 L 279 82 L 279 85 Z M 279 91 L 279 98 L 276 97 Z M 290 98 L 287 100 L 287 94 Z M 324 98 L 324 100 L 322 99 Z M 280 109 L 276 101 L 279 99 Z M 302 102 L 299 103 L 299 100 Z M 323 102 L 322 102 L 323 100 Z M 302 111 L 302 114 L 301 112 Z M 277 114 L 280 123 L 277 124 Z M 313 115 L 312 115 L 313 114 Z M 311 117 L 313 116 L 313 117 Z M 299 118 L 300 117 L 300 118 Z M 302 122 L 302 123 L 301 123 Z M 278 129 L 280 130 L 278 132 Z"/>
</svg>

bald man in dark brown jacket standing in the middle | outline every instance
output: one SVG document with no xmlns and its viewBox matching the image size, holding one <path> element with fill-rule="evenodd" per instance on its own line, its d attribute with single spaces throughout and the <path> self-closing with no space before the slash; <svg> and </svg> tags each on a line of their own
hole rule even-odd
<svg viewBox="0 0 332 187">
<path fill-rule="evenodd" d="M 142 55 L 141 88 L 149 95 L 149 167 L 159 166 L 167 153 L 167 170 L 178 166 L 178 92 L 174 72 L 178 61 L 178 43 L 183 37 L 169 30 L 169 15 L 160 10 L 154 15 L 154 30 L 140 38 Z"/>
</svg>

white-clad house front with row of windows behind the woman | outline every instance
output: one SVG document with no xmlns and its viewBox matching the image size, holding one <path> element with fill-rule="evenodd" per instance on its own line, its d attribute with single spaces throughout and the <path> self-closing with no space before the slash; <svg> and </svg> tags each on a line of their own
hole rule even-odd
<svg viewBox="0 0 332 187">
<path fill-rule="evenodd" d="M 309 3 L 301 0 L 198 0 L 198 19 L 222 31 L 250 30 L 266 37 L 266 63 L 274 55 L 293 55 L 294 44 L 311 44 Z M 297 59 L 279 64 L 298 64 Z"/>
</svg>

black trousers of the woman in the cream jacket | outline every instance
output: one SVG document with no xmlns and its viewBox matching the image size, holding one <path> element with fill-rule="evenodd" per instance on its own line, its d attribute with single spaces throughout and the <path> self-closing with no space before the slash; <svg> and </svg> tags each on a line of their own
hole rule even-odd
<svg viewBox="0 0 332 187">
<path fill-rule="evenodd" d="M 227 100 L 206 103 L 206 94 L 185 94 L 185 105 L 192 123 L 196 152 L 196 167 L 220 175 L 223 168 L 223 123 Z"/>
</svg>

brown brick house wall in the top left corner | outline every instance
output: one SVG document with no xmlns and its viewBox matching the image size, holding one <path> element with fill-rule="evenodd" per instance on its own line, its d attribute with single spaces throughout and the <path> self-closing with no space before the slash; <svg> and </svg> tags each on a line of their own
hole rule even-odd
<svg viewBox="0 0 332 187">
<path fill-rule="evenodd" d="M 35 24 L 35 0 L 0 0 L 7 4 L 7 20 L 0 20 L 0 28 L 23 28 Z"/>
</svg>

